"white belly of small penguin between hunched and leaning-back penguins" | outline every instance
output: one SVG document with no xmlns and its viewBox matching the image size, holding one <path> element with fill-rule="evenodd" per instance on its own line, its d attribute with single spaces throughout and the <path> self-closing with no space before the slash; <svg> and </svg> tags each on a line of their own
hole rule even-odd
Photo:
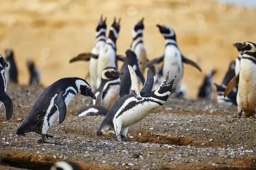
<svg viewBox="0 0 256 170">
<path fill-rule="evenodd" d="M 103 106 L 110 110 L 119 99 L 120 85 L 111 85 L 108 93 L 104 96 Z"/>
</svg>

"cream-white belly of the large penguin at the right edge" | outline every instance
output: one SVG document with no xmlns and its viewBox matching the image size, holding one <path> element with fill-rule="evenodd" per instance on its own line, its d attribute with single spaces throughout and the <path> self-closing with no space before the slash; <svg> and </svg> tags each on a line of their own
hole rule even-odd
<svg viewBox="0 0 256 170">
<path fill-rule="evenodd" d="M 249 59 L 241 59 L 237 102 L 244 112 L 256 109 L 256 65 Z"/>
</svg>

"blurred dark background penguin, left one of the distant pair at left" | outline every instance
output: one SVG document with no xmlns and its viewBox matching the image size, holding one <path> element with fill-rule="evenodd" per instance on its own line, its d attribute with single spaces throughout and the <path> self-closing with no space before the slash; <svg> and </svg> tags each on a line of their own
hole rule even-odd
<svg viewBox="0 0 256 170">
<path fill-rule="evenodd" d="M 6 49 L 6 63 L 9 65 L 8 68 L 6 68 L 6 80 L 7 82 L 14 82 L 18 83 L 18 71 L 16 67 L 16 62 L 14 59 L 14 52 L 11 49 Z"/>
</svg>

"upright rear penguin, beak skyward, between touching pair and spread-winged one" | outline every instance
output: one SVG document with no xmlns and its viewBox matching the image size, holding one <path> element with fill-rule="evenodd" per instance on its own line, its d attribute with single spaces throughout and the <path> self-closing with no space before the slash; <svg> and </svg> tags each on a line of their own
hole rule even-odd
<svg viewBox="0 0 256 170">
<path fill-rule="evenodd" d="M 143 43 L 143 31 L 144 31 L 144 18 L 138 21 L 134 28 L 132 29 L 132 38 L 133 41 L 131 43 L 131 50 L 134 51 L 136 56 L 140 61 L 140 71 L 144 73 L 144 65 L 148 61 L 146 50 Z"/>
</svg>

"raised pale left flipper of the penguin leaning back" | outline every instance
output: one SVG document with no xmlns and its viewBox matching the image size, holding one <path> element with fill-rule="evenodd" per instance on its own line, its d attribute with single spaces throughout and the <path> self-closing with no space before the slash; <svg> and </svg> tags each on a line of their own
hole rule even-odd
<svg viewBox="0 0 256 170">
<path fill-rule="evenodd" d="M 131 65 L 128 65 L 128 69 L 131 75 L 131 92 L 137 99 L 142 99 L 140 96 L 140 83 L 138 77 Z"/>
</svg>

